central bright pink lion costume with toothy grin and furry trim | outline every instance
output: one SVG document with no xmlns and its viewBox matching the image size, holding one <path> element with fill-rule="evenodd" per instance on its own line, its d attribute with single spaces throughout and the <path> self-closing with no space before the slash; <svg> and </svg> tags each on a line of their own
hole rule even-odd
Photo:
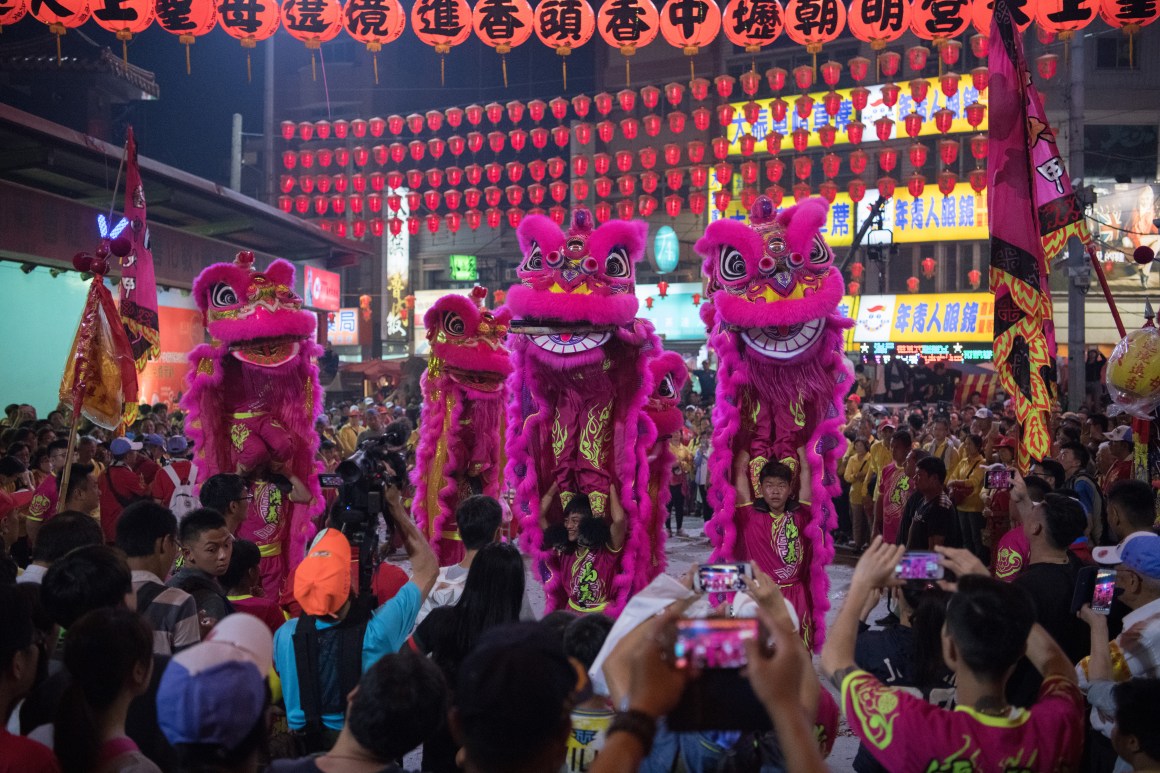
<svg viewBox="0 0 1160 773">
<path fill-rule="evenodd" d="M 621 565 L 597 568 L 610 614 L 647 583 L 652 549 L 640 520 L 651 512 L 644 501 L 647 458 L 637 449 L 652 389 L 648 357 L 659 341 L 652 325 L 636 318 L 633 292 L 633 266 L 647 232 L 639 221 L 594 227 L 586 209 L 573 211 L 566 234 L 548 217 L 527 217 L 517 230 L 522 283 L 507 295 L 519 333 L 510 344 L 507 479 L 515 485 L 523 547 L 541 562 L 549 558 L 539 503 L 553 482 L 559 496 L 544 514 L 550 523 L 563 522 L 564 507 L 577 494 L 588 497 L 594 515 L 607 518 L 615 483 L 628 535 Z M 560 572 L 545 583 L 546 608 L 565 606 L 568 587 Z"/>
</svg>

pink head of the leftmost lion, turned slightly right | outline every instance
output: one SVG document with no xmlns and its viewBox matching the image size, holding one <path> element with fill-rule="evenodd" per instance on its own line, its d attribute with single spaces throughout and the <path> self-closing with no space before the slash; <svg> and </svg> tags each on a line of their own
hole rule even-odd
<svg viewBox="0 0 1160 773">
<path fill-rule="evenodd" d="M 213 263 L 194 280 L 194 299 L 210 335 L 247 364 L 276 368 L 292 361 L 318 328 L 293 291 L 293 265 L 281 258 L 264 272 L 254 269 L 248 251 L 232 263 Z"/>
</svg>

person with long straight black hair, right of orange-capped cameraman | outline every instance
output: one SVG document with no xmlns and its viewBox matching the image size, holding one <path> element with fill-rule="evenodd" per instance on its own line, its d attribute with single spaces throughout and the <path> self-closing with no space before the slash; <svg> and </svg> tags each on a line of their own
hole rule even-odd
<svg viewBox="0 0 1160 773">
<path fill-rule="evenodd" d="M 485 546 L 471 562 L 458 602 L 433 609 L 412 634 L 411 645 L 443 670 L 452 694 L 459 664 L 484 631 L 520 620 L 523 585 L 523 558 L 515 546 L 500 542 Z M 423 744 L 422 770 L 457 773 L 456 751 L 458 747 L 444 722 Z"/>
</svg>

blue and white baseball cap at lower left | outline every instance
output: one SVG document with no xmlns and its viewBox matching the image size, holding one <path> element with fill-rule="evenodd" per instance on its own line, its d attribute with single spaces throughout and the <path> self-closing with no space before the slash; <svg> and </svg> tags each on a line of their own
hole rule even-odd
<svg viewBox="0 0 1160 773">
<path fill-rule="evenodd" d="M 157 691 L 157 720 L 171 744 L 237 749 L 266 713 L 274 637 L 237 613 L 209 637 L 173 656 Z"/>
</svg>

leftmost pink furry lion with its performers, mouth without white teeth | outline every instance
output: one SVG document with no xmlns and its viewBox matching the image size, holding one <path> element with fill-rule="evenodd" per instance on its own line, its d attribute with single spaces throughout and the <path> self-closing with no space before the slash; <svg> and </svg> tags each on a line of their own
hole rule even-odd
<svg viewBox="0 0 1160 773">
<path fill-rule="evenodd" d="M 322 390 L 314 315 L 293 291 L 293 266 L 254 268 L 254 254 L 215 263 L 194 281 L 212 342 L 189 353 L 181 406 L 203 478 L 245 477 L 254 500 L 238 536 L 261 550 L 262 587 L 281 599 L 287 572 L 305 555 L 322 496 L 316 475 Z"/>
</svg>

